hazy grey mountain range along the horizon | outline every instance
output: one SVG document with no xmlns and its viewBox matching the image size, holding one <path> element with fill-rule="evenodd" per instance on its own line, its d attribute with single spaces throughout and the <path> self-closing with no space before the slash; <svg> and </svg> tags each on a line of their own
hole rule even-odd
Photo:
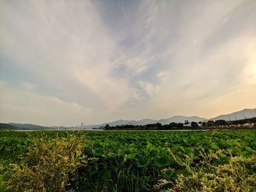
<svg viewBox="0 0 256 192">
<path fill-rule="evenodd" d="M 91 128 L 103 128 L 107 124 L 109 126 L 122 126 L 122 125 L 134 125 L 134 126 L 139 126 L 139 125 L 146 125 L 146 124 L 153 124 L 153 123 L 161 123 L 162 125 L 169 124 L 171 122 L 175 123 L 184 123 L 185 120 L 188 120 L 189 122 L 195 121 L 195 122 L 200 122 L 200 121 L 207 121 L 207 120 L 239 120 L 239 119 L 246 119 L 246 118 L 256 118 L 256 108 L 255 109 L 244 109 L 238 112 L 233 112 L 227 115 L 219 115 L 215 118 L 211 119 L 206 119 L 206 118 L 200 118 L 197 116 L 192 116 L 192 117 L 187 117 L 187 116 L 181 116 L 181 115 L 176 115 L 171 118 L 166 118 L 166 119 L 160 119 L 160 120 L 154 120 L 154 119 L 142 119 L 142 120 L 116 120 L 113 122 L 109 123 L 102 123 L 99 125 L 86 125 L 86 126 L 75 126 L 75 127 L 67 127 L 67 126 L 37 126 L 33 124 L 22 124 L 22 123 L 0 123 L 0 129 L 1 126 L 6 126 L 7 125 L 18 128 L 18 129 L 71 129 L 71 128 L 86 128 L 86 129 L 91 129 Z"/>
</svg>

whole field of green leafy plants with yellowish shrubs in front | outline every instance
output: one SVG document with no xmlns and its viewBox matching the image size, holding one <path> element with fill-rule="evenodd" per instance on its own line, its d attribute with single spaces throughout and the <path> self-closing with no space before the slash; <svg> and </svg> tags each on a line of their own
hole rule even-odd
<svg viewBox="0 0 256 192">
<path fill-rule="evenodd" d="M 256 191 L 256 131 L 0 131 L 0 191 Z"/>
</svg>

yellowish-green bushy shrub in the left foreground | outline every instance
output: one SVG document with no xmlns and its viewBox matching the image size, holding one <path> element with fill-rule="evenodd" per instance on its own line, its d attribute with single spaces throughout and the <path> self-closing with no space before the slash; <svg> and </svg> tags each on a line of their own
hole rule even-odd
<svg viewBox="0 0 256 192">
<path fill-rule="evenodd" d="M 83 143 L 74 135 L 33 139 L 21 163 L 10 164 L 7 191 L 67 191 L 70 178 L 86 164 L 82 152 Z"/>
</svg>

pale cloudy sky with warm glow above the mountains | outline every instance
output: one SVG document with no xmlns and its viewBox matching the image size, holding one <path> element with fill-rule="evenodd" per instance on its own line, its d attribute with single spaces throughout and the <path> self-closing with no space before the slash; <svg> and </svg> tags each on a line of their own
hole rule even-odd
<svg viewBox="0 0 256 192">
<path fill-rule="evenodd" d="M 256 1 L 0 0 L 0 122 L 256 107 Z"/>
</svg>

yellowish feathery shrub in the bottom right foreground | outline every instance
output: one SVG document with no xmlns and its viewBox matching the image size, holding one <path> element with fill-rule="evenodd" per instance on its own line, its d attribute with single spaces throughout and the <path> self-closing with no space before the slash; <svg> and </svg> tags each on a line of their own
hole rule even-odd
<svg viewBox="0 0 256 192">
<path fill-rule="evenodd" d="M 186 159 L 177 159 L 180 164 L 187 166 L 189 175 L 178 174 L 177 180 L 159 180 L 154 188 L 167 189 L 162 191 L 255 191 L 256 190 L 256 156 L 250 158 L 233 157 L 228 158 L 227 164 L 214 165 L 219 161 L 217 153 L 201 153 L 203 160 L 192 166 L 191 156 Z M 164 169 L 164 172 L 169 169 Z"/>
</svg>

